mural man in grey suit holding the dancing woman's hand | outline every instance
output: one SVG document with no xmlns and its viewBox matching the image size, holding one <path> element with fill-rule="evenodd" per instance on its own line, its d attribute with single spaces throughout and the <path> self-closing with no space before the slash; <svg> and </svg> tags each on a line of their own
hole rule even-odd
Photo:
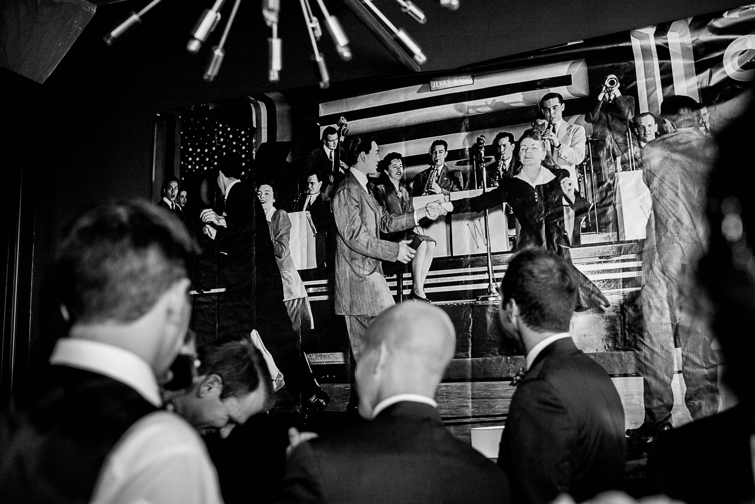
<svg viewBox="0 0 755 504">
<path fill-rule="evenodd" d="M 371 137 L 353 137 L 347 148 L 350 171 L 333 197 L 338 238 L 335 255 L 335 312 L 346 318 L 353 359 L 359 362 L 365 330 L 384 309 L 393 306 L 381 261 L 408 263 L 415 250 L 409 241 L 381 240 L 380 232 L 396 232 L 417 225 L 424 217 L 445 214 L 433 202 L 413 212 L 388 214 L 367 189 L 368 175 L 377 173 L 377 143 Z M 352 389 L 352 405 L 356 396 Z"/>
</svg>

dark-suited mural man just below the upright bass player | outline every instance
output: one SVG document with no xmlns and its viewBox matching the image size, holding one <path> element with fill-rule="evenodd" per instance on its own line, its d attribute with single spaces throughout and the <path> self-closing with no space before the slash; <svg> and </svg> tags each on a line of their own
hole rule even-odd
<svg viewBox="0 0 755 504">
<path fill-rule="evenodd" d="M 315 254 L 318 268 L 332 268 L 334 254 L 333 211 L 331 198 L 322 192 L 322 174 L 313 170 L 307 173 L 307 197 L 298 211 L 307 212 L 315 229 Z"/>
</svg>

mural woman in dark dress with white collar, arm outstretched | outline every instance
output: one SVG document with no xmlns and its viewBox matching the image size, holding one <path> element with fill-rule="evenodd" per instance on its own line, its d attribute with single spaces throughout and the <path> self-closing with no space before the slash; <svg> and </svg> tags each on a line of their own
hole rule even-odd
<svg viewBox="0 0 755 504">
<path fill-rule="evenodd" d="M 574 220 L 587 211 L 587 200 L 575 189 L 569 172 L 544 166 L 547 149 L 541 132 L 532 128 L 519 139 L 519 161 L 522 170 L 501 180 L 493 191 L 467 201 L 455 202 L 459 210 L 470 208 L 482 212 L 504 201 L 513 208 L 521 225 L 519 247 L 545 247 L 571 262 L 570 236 L 575 223 L 569 222 L 566 207 L 575 211 Z M 577 270 L 579 279 L 578 311 L 609 306 L 599 288 Z"/>
</svg>

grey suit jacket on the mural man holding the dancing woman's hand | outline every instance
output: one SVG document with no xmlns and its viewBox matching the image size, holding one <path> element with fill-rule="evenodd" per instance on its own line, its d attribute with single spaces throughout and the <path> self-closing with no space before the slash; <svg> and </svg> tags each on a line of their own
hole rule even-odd
<svg viewBox="0 0 755 504">
<path fill-rule="evenodd" d="M 374 315 L 393 305 L 381 261 L 395 261 L 399 244 L 381 240 L 380 232 L 415 225 L 414 212 L 392 215 L 349 173 L 333 198 L 338 238 L 335 254 L 335 312 Z"/>
</svg>

